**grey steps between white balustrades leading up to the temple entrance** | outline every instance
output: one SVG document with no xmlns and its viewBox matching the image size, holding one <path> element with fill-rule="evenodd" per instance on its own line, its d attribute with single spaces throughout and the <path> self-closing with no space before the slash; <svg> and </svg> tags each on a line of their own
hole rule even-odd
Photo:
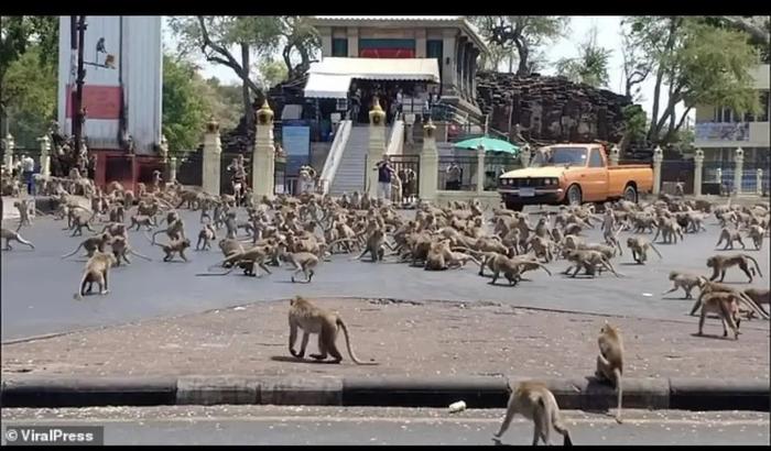
<svg viewBox="0 0 771 451">
<path fill-rule="evenodd" d="M 390 128 L 386 129 L 386 136 L 391 135 Z M 354 191 L 363 193 L 365 190 L 365 161 L 367 160 L 367 150 L 369 147 L 369 127 L 354 127 L 350 130 L 348 142 L 340 157 L 339 166 L 332 180 L 329 194 L 340 196 L 343 193 L 349 195 Z M 374 164 L 374 162 L 372 162 Z"/>
</svg>

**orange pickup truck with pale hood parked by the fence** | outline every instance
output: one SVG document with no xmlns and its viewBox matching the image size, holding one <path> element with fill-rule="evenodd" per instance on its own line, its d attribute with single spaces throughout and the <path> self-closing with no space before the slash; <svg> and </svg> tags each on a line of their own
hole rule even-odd
<svg viewBox="0 0 771 451">
<path fill-rule="evenodd" d="M 555 144 L 540 148 L 526 168 L 498 179 L 498 193 L 511 210 L 525 205 L 577 205 L 627 199 L 653 189 L 650 165 L 608 166 L 601 144 Z"/>
</svg>

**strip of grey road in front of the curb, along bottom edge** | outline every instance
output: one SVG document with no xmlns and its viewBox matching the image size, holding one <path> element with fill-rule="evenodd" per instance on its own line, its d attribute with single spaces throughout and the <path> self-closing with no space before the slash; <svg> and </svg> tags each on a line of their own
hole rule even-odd
<svg viewBox="0 0 771 451">
<path fill-rule="evenodd" d="M 768 413 L 565 411 L 575 444 L 769 444 Z M 105 426 L 105 444 L 495 444 L 502 409 L 278 406 L 3 409 L 13 426 Z M 3 428 L 3 443 L 6 430 Z M 532 424 L 518 417 L 501 444 L 530 444 Z M 561 443 L 552 431 L 552 440 Z"/>
</svg>

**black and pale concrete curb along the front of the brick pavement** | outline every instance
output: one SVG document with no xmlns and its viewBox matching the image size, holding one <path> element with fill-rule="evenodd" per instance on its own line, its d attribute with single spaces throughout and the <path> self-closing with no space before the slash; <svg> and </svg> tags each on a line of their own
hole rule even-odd
<svg viewBox="0 0 771 451">
<path fill-rule="evenodd" d="M 502 408 L 508 387 L 524 377 L 181 376 L 7 378 L 2 407 L 156 405 L 316 405 Z M 594 377 L 541 380 L 563 409 L 607 410 L 616 391 Z M 630 378 L 623 407 L 684 410 L 760 410 L 771 405 L 769 382 L 754 380 Z"/>
</svg>

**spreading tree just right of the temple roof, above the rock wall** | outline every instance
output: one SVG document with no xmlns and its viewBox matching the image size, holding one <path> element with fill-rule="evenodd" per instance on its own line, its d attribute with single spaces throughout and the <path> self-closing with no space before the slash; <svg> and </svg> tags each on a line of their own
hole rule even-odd
<svg viewBox="0 0 771 451">
<path fill-rule="evenodd" d="M 563 15 L 476 15 L 470 19 L 490 44 L 517 50 L 519 76 L 533 72 L 533 54 L 547 42 L 565 36 L 571 21 Z M 509 72 L 512 72 L 513 54 L 510 55 Z"/>
</svg>

